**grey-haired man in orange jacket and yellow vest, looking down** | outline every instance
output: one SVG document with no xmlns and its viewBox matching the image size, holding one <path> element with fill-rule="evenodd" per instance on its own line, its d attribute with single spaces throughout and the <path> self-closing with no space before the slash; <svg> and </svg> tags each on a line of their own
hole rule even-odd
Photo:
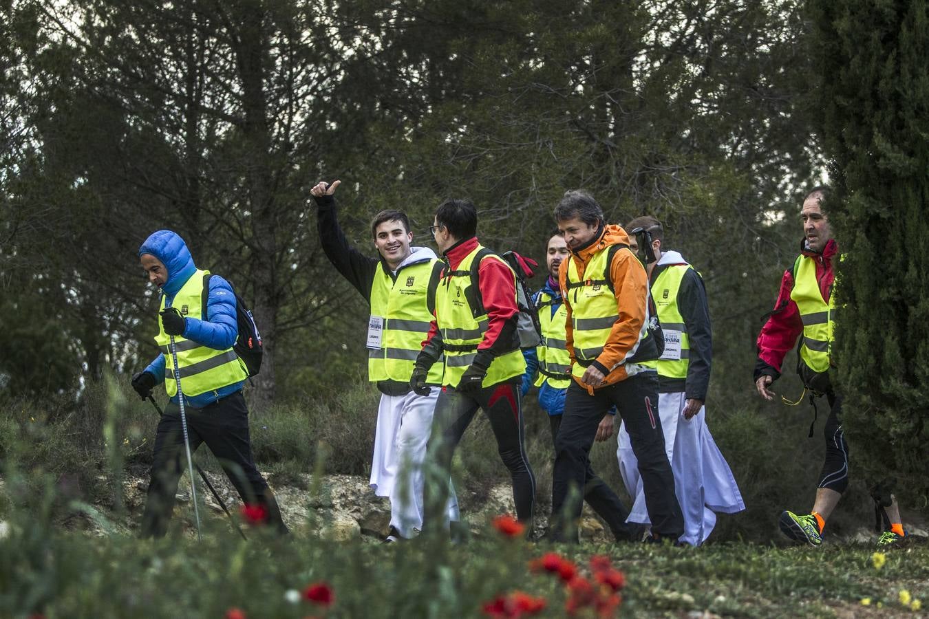
<svg viewBox="0 0 929 619">
<path fill-rule="evenodd" d="M 674 541 L 684 517 L 674 496 L 674 473 L 664 450 L 658 415 L 658 375 L 641 362 L 661 354 L 649 332 L 648 277 L 629 250 L 621 226 L 607 226 L 585 191 L 568 191 L 555 208 L 571 251 L 558 270 L 568 309 L 572 382 L 556 437 L 551 537 L 577 541 L 577 520 L 588 484 L 597 484 L 590 448 L 597 425 L 615 405 L 629 432 L 645 493 L 652 540 Z M 617 497 L 614 509 L 625 508 Z"/>
</svg>

